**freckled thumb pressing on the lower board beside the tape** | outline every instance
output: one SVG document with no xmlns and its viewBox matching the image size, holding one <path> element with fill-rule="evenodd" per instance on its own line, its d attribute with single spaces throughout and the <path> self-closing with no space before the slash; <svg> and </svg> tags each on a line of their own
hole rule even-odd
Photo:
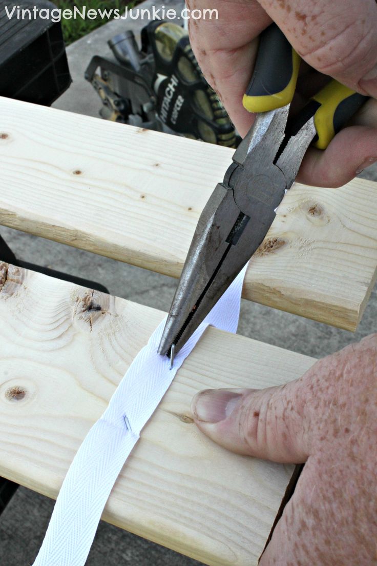
<svg viewBox="0 0 377 566">
<path fill-rule="evenodd" d="M 310 427 L 302 381 L 268 389 L 205 389 L 192 401 L 194 421 L 224 448 L 275 462 L 305 462 Z"/>
</svg>

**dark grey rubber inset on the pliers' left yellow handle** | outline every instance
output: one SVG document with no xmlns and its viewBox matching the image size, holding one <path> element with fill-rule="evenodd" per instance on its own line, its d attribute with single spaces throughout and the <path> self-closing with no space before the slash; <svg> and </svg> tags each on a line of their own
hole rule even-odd
<svg viewBox="0 0 377 566">
<path fill-rule="evenodd" d="M 293 75 L 293 49 L 284 33 L 271 24 L 261 34 L 257 61 L 247 96 L 269 96 L 286 88 Z"/>
</svg>

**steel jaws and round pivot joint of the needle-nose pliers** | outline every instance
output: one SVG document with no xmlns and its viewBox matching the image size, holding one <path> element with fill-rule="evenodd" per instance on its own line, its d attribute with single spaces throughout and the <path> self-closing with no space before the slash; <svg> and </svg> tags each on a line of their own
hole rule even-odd
<svg viewBox="0 0 377 566">
<path fill-rule="evenodd" d="M 264 135 L 270 137 L 269 128 L 276 134 L 279 119 L 281 133 L 272 138 L 276 145 L 271 142 L 271 155 L 276 155 L 284 137 L 287 115 L 288 108 L 274 110 L 258 116 L 252 127 L 261 130 L 264 126 Z M 274 209 L 285 192 L 284 175 L 272 164 L 267 149 L 263 152 L 263 135 L 258 144 L 253 140 L 251 135 L 241 142 L 223 183 L 216 185 L 199 218 L 159 354 L 170 355 L 172 344 L 175 353 L 180 350 L 261 245 L 274 220 Z"/>
</svg>

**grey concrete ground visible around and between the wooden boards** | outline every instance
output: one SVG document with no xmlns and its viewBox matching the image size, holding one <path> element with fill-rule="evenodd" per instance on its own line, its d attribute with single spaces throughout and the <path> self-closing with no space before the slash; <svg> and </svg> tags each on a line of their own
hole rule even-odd
<svg viewBox="0 0 377 566">
<path fill-rule="evenodd" d="M 147 0 L 145 6 L 151 6 Z M 177 5 L 166 1 L 165 6 Z M 130 23 L 131 25 L 128 25 Z M 127 22 L 140 29 L 140 21 Z M 126 28 L 123 22 L 110 22 L 72 44 L 68 59 L 74 83 L 54 106 L 72 112 L 98 115 L 99 98 L 83 79 L 93 54 L 106 54 L 106 41 Z M 366 170 L 363 177 L 377 180 L 377 167 Z M 19 259 L 53 267 L 106 285 L 111 294 L 167 311 L 176 281 L 89 252 L 76 250 L 29 234 L 3 228 L 0 234 Z M 323 357 L 354 340 L 376 331 L 377 292 L 355 334 L 306 320 L 286 312 L 242 301 L 239 332 L 257 340 L 275 344 L 314 357 Z M 0 518 L 0 563 L 2 566 L 31 564 L 53 510 L 54 502 L 25 488 L 19 488 Z M 194 566 L 200 563 L 145 541 L 101 522 L 87 561 L 88 566 Z M 53 566 L 53 565 L 51 565 Z"/>
</svg>

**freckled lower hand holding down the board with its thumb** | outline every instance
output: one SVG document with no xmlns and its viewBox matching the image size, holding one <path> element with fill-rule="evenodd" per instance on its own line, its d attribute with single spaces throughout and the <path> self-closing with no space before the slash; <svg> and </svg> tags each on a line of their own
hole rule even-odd
<svg viewBox="0 0 377 566">
<path fill-rule="evenodd" d="M 269 389 L 207 389 L 194 421 L 233 452 L 306 462 L 259 566 L 377 564 L 377 334 Z"/>
</svg>

